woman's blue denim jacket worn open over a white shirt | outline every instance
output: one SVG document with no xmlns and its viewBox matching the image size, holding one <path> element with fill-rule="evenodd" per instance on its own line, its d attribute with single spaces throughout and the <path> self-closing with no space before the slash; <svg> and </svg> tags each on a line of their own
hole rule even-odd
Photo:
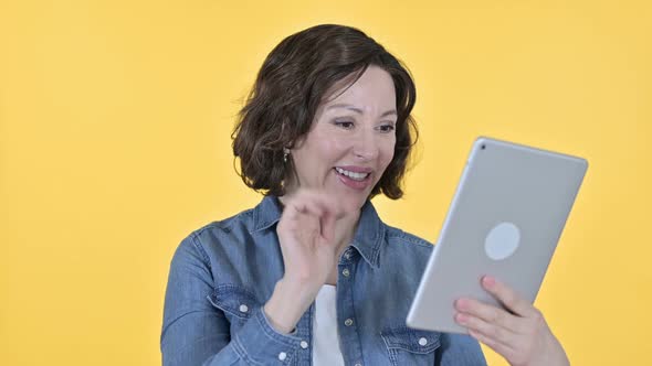
<svg viewBox="0 0 652 366">
<path fill-rule="evenodd" d="M 181 241 L 170 266 L 165 366 L 312 365 L 314 303 L 291 334 L 262 310 L 283 277 L 282 207 L 267 196 Z M 383 224 L 370 202 L 338 261 L 337 321 L 346 365 L 485 365 L 470 336 L 412 330 L 406 316 L 433 246 Z"/>
</svg>

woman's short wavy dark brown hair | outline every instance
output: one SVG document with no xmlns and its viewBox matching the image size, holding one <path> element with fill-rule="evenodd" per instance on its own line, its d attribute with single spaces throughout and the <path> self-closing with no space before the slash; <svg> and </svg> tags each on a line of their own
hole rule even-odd
<svg viewBox="0 0 652 366">
<path fill-rule="evenodd" d="M 292 160 L 284 163 L 283 148 L 308 133 L 317 108 L 337 82 L 355 83 L 369 65 L 391 75 L 398 115 L 393 159 L 370 197 L 382 193 L 400 198 L 418 138 L 410 115 L 417 98 L 414 82 L 399 60 L 364 32 L 334 24 L 292 34 L 265 58 L 232 134 L 244 183 L 265 195 L 284 195 L 284 181 L 294 166 Z"/>
</svg>

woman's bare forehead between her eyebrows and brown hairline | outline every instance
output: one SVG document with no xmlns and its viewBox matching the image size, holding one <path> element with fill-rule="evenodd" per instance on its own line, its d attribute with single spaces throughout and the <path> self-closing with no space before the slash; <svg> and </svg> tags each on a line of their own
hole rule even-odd
<svg viewBox="0 0 652 366">
<path fill-rule="evenodd" d="M 346 77 L 336 83 L 324 108 L 338 104 L 349 104 L 361 109 L 396 109 L 396 89 L 391 75 L 385 69 L 370 65 L 354 82 L 354 77 Z"/>
</svg>

